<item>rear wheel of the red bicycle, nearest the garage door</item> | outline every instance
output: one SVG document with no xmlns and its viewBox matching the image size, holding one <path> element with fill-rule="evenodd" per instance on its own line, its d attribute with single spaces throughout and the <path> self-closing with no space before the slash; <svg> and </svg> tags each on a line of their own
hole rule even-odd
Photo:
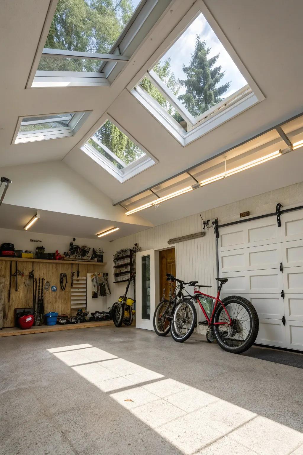
<svg viewBox="0 0 303 455">
<path fill-rule="evenodd" d="M 222 300 L 228 316 L 220 304 L 214 315 L 214 322 L 226 322 L 226 325 L 214 325 L 214 336 L 219 346 L 228 352 L 240 354 L 249 349 L 258 335 L 259 319 L 253 305 L 244 297 L 232 295 Z"/>
</svg>

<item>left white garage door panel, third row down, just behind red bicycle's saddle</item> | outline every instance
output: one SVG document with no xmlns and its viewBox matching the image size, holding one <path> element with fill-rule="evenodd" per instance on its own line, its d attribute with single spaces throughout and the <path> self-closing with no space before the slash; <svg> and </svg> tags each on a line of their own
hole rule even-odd
<svg viewBox="0 0 303 455">
<path fill-rule="evenodd" d="M 222 277 L 228 278 L 223 291 L 229 294 L 239 292 L 277 294 L 283 288 L 282 273 L 279 269 L 225 272 L 222 273 Z"/>
</svg>

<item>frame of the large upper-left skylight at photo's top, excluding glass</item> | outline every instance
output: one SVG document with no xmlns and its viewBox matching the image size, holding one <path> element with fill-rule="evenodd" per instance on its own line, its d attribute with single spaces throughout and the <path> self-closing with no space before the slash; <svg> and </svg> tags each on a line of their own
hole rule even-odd
<svg viewBox="0 0 303 455">
<path fill-rule="evenodd" d="M 110 86 L 129 61 L 130 55 L 134 53 L 135 48 L 138 47 L 136 36 L 138 35 L 139 43 L 141 43 L 142 36 L 140 35 L 146 36 L 150 27 L 154 25 L 152 21 L 147 20 L 149 19 L 150 13 L 154 9 L 157 11 L 155 17 L 152 19 L 155 22 L 169 5 L 170 0 L 141 0 L 108 54 L 44 48 L 58 1 L 50 0 L 40 41 L 25 86 L 27 89 L 37 87 Z M 38 71 L 37 68 L 42 56 L 79 59 L 93 58 L 100 60 L 100 67 L 97 72 Z"/>
</svg>

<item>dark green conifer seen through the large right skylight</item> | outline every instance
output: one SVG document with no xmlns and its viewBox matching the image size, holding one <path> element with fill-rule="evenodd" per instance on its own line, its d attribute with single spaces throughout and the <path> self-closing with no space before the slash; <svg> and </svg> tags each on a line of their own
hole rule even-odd
<svg viewBox="0 0 303 455">
<path fill-rule="evenodd" d="M 194 117 L 219 103 L 230 86 L 230 82 L 219 86 L 225 71 L 221 71 L 222 66 L 214 66 L 219 54 L 208 58 L 210 50 L 206 42 L 201 41 L 197 35 L 189 66 L 182 67 L 186 79 L 179 79 L 180 86 L 186 90 L 178 98 Z M 176 117 L 178 118 L 178 115 Z"/>
</svg>

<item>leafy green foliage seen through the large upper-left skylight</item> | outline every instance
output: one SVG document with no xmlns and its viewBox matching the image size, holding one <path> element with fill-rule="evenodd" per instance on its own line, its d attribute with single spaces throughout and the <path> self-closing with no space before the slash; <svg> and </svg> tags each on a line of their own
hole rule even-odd
<svg viewBox="0 0 303 455">
<path fill-rule="evenodd" d="M 107 53 L 134 10 L 132 0 L 59 0 L 45 47 Z M 93 59 L 42 57 L 38 70 L 97 71 Z"/>
</svg>

